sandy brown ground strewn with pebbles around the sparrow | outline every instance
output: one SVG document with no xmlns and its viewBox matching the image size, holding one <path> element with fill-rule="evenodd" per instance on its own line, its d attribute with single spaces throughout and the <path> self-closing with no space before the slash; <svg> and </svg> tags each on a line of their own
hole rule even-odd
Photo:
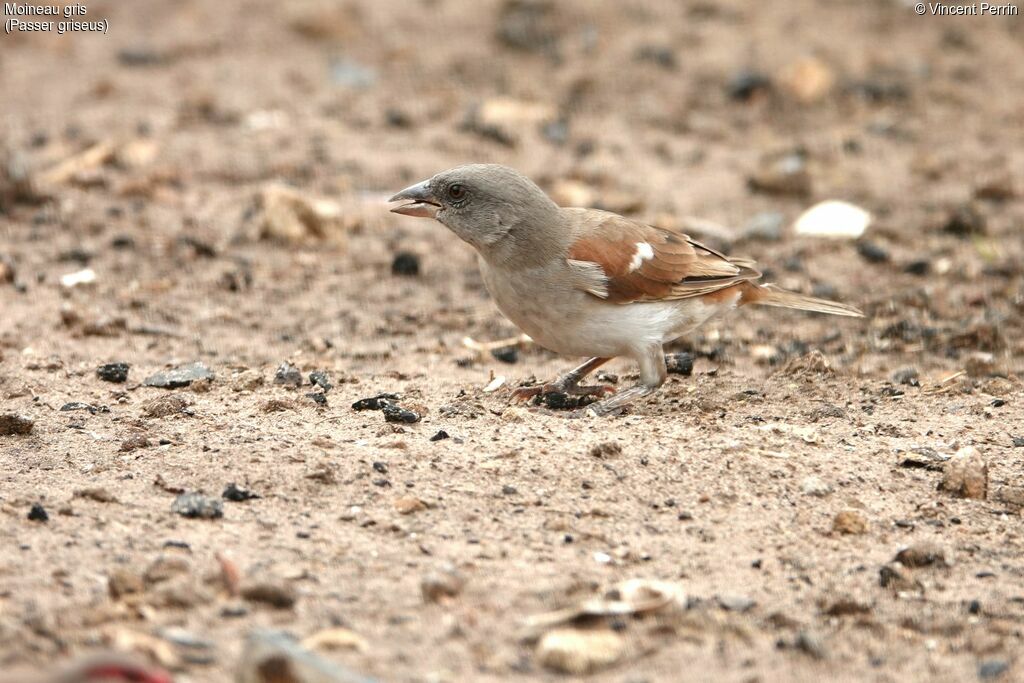
<svg viewBox="0 0 1024 683">
<path fill-rule="evenodd" d="M 108 35 L 0 36 L 0 416 L 33 421 L 0 435 L 0 670 L 114 648 L 227 681 L 253 629 L 337 627 L 325 656 L 380 680 L 556 680 L 523 620 L 647 578 L 683 604 L 569 627 L 622 645 L 595 680 L 1024 680 L 1020 17 L 88 9 Z M 777 154 L 798 177 L 765 180 Z M 384 203 L 468 161 L 867 316 L 743 310 L 678 342 L 693 375 L 625 416 L 510 409 L 575 359 L 466 349 L 516 331 L 467 246 Z M 283 185 L 340 211 L 324 236 L 261 237 Z M 830 198 L 867 233 L 794 236 Z M 214 379 L 143 386 L 193 361 Z M 286 361 L 302 386 L 275 382 Z M 381 392 L 422 419 L 351 409 Z M 940 490 L 970 447 L 982 498 Z M 231 482 L 258 498 L 172 509 Z"/>
</svg>

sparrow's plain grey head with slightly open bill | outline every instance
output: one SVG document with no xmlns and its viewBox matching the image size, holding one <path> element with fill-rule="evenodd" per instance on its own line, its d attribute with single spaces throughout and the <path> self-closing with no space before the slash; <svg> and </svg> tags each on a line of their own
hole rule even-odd
<svg viewBox="0 0 1024 683">
<path fill-rule="evenodd" d="M 557 231 L 558 206 L 532 180 L 507 166 L 469 164 L 442 171 L 389 201 L 412 201 L 391 209 L 436 218 L 484 258 L 508 259 Z"/>
</svg>

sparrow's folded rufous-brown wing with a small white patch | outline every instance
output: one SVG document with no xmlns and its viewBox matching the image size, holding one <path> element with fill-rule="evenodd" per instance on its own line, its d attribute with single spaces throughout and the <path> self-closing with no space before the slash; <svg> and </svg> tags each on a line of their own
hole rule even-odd
<svg viewBox="0 0 1024 683">
<path fill-rule="evenodd" d="M 761 272 L 748 259 L 729 259 L 685 234 L 613 213 L 572 213 L 568 263 L 578 285 L 612 303 L 669 301 L 711 294 Z"/>
</svg>

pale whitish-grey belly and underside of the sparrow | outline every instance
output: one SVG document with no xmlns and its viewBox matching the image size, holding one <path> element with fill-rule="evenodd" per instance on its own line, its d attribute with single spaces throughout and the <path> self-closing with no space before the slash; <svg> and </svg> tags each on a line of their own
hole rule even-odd
<svg viewBox="0 0 1024 683">
<path fill-rule="evenodd" d="M 541 346 L 564 355 L 634 355 L 664 344 L 735 306 L 736 297 L 614 304 L 537 273 L 505 274 L 484 266 L 483 281 L 499 310 Z M 547 296 L 545 296 L 547 292 Z"/>
</svg>

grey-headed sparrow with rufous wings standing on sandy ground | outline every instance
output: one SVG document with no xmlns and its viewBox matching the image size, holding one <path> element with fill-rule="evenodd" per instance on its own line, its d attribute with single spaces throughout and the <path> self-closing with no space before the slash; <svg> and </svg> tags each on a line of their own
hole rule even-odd
<svg viewBox="0 0 1024 683">
<path fill-rule="evenodd" d="M 534 341 L 588 357 L 554 382 L 516 389 L 514 400 L 601 396 L 586 411 L 617 413 L 665 383 L 665 344 L 738 306 L 863 316 L 853 306 L 758 284 L 755 261 L 680 232 L 607 211 L 559 207 L 506 166 L 459 166 L 389 200 L 400 201 L 409 203 L 392 212 L 433 218 L 476 250 L 498 308 Z M 637 362 L 637 384 L 617 393 L 580 384 L 617 356 Z"/>
</svg>

